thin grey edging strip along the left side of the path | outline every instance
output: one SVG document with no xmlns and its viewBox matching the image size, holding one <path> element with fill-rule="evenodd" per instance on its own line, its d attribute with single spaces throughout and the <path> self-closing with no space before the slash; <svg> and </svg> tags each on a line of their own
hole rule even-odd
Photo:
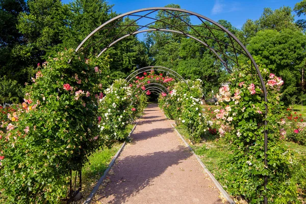
<svg viewBox="0 0 306 204">
<path fill-rule="evenodd" d="M 136 124 L 134 125 L 132 131 L 129 133 L 129 136 L 131 136 L 131 134 L 133 133 L 133 131 L 136 128 L 136 125 L 138 124 L 138 122 L 136 122 Z M 117 151 L 116 155 L 114 156 L 114 158 L 112 159 L 111 163 L 109 164 L 108 168 L 104 171 L 104 174 L 100 177 L 99 181 L 97 182 L 97 184 L 95 185 L 95 187 L 92 189 L 91 193 L 89 194 L 89 196 L 87 197 L 87 199 L 83 202 L 83 204 L 89 204 L 94 196 L 94 194 L 97 192 L 97 190 L 99 189 L 100 185 L 102 184 L 102 182 L 105 180 L 108 172 L 111 170 L 112 166 L 115 164 L 116 159 L 119 157 L 121 151 L 123 150 L 124 146 L 125 146 L 126 142 L 123 142 L 123 144 L 121 145 L 120 149 Z"/>
</svg>

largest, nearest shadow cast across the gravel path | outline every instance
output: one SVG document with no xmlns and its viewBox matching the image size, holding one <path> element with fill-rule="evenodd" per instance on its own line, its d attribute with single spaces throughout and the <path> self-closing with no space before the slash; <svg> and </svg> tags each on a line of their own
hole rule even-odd
<svg viewBox="0 0 306 204">
<path fill-rule="evenodd" d="M 123 203 L 127 198 L 135 196 L 147 186 L 153 185 L 152 180 L 161 175 L 169 166 L 180 164 L 192 155 L 185 147 L 180 146 L 170 151 L 157 151 L 143 156 L 128 156 L 120 159 L 112 183 L 105 187 L 99 197 L 111 199 L 108 203 Z M 123 176 L 120 171 L 124 172 Z M 168 187 L 166 187 L 167 190 Z"/>
</svg>

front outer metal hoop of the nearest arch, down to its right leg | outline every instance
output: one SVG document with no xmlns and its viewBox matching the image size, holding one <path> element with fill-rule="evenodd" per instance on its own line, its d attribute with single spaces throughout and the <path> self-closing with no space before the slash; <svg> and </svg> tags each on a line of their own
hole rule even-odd
<svg viewBox="0 0 306 204">
<path fill-rule="evenodd" d="M 98 28 L 96 28 L 93 32 L 91 32 L 81 43 L 80 45 L 77 47 L 77 49 L 75 49 L 75 52 L 78 52 L 80 50 L 80 48 L 83 46 L 83 44 L 91 37 L 93 36 L 96 32 L 98 32 L 101 28 L 103 28 L 105 25 L 107 25 L 108 23 L 110 22 L 113 22 L 117 19 L 123 19 L 125 16 L 129 16 L 131 14 L 135 14 L 135 13 L 139 13 L 139 12 L 144 12 L 144 11 L 151 11 L 150 13 L 154 13 L 156 11 L 177 11 L 177 12 L 182 12 L 182 13 L 187 13 L 187 14 L 190 14 L 190 15 L 193 15 L 193 16 L 196 16 L 198 17 L 200 20 L 205 20 L 205 21 L 208 21 L 214 25 L 216 25 L 218 28 L 220 28 L 223 32 L 225 32 L 228 37 L 234 39 L 238 45 L 243 49 L 243 51 L 246 53 L 246 56 L 250 59 L 251 61 L 251 66 L 253 65 L 256 69 L 256 72 L 257 74 L 259 75 L 259 78 L 260 78 L 260 83 L 261 83 L 261 86 L 262 86 L 262 89 L 264 91 L 264 100 L 265 100 L 265 136 L 264 136 L 264 141 L 265 141 L 265 148 L 264 148 L 264 153 L 265 153 L 265 166 L 267 168 L 268 166 L 268 163 L 267 163 L 267 146 L 268 146 L 268 131 L 267 131 L 267 114 L 268 114 L 268 106 L 267 106 L 267 90 L 266 90 L 266 86 L 265 86 L 265 83 L 264 83 L 264 80 L 263 80 L 263 77 L 260 73 L 260 70 L 258 68 L 258 65 L 256 64 L 256 62 L 254 61 L 253 57 L 250 55 L 250 53 L 248 52 L 248 50 L 245 48 L 245 46 L 240 42 L 240 40 L 234 35 L 232 34 L 230 31 L 228 31 L 227 29 L 225 29 L 221 24 L 213 21 L 212 19 L 208 18 L 208 17 L 205 17 L 203 15 L 200 15 L 200 14 L 197 14 L 195 12 L 191 12 L 191 11 L 187 11 L 187 10 L 183 10 L 183 9 L 176 9 L 176 8 L 166 8 L 166 7 L 154 7 L 154 8 L 145 8 L 145 9 L 139 9 L 139 10 L 135 10 L 135 11 L 130 11 L 130 12 L 127 12 L 127 13 L 124 13 L 124 14 L 121 14 L 121 15 L 118 15 L 110 20 L 108 20 L 107 22 L 103 23 L 102 25 L 100 25 Z M 146 14 L 146 15 L 149 15 L 150 13 Z M 139 17 L 137 20 L 141 19 L 142 17 L 145 17 L 146 15 L 142 15 L 141 17 Z M 173 16 L 174 18 L 176 17 Z M 136 22 L 137 20 L 135 20 L 134 22 Z M 118 20 L 119 21 L 119 20 Z M 118 22 L 117 21 L 117 22 Z M 133 23 L 134 23 L 133 22 Z M 192 27 L 192 25 L 190 24 L 187 24 L 187 26 L 189 27 Z M 114 28 L 114 27 L 113 27 Z M 203 27 L 205 28 L 205 27 Z M 208 27 L 206 27 L 208 29 Z M 213 35 L 213 33 L 210 31 L 210 33 Z M 215 36 L 214 36 L 215 37 Z M 216 38 L 215 38 L 216 39 Z M 230 40 L 232 40 L 230 39 Z M 205 44 L 203 44 L 205 45 Z M 234 43 L 233 43 L 234 45 Z M 234 46 L 235 47 L 235 46 Z M 236 47 L 234 48 L 234 52 L 235 52 L 235 56 L 237 57 L 237 53 L 236 53 Z M 224 52 L 222 52 L 221 50 L 221 53 L 223 53 L 224 55 Z M 217 55 L 216 55 L 217 56 Z M 235 62 L 235 61 L 234 61 Z M 239 64 L 238 64 L 239 65 Z M 264 183 L 264 187 L 265 187 L 265 190 L 266 190 L 266 185 L 267 185 L 267 176 L 265 176 L 265 183 Z M 265 203 L 267 203 L 267 197 L 265 197 Z"/>
</svg>

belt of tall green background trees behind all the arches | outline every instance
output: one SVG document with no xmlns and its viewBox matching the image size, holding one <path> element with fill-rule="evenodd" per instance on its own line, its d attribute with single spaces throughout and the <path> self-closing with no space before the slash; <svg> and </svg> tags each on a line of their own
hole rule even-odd
<svg viewBox="0 0 306 204">
<path fill-rule="evenodd" d="M 175 4 L 166 7 L 181 8 Z M 292 11 L 302 17 L 305 16 L 305 8 L 305 0 L 297 3 L 293 10 L 287 6 L 276 10 L 265 8 L 259 19 L 246 20 L 241 30 L 226 20 L 218 21 L 248 47 L 259 65 L 284 78 L 286 100 L 304 91 L 305 36 L 302 32 L 305 20 L 294 22 Z M 156 15 L 159 21 L 151 26 L 169 29 L 173 24 L 192 23 L 189 16 L 171 18 L 176 14 L 175 11 L 159 11 Z M 16 81 L 19 86 L 32 83 L 31 78 L 37 71 L 38 63 L 47 61 L 48 57 L 55 56 L 64 48 L 76 48 L 95 28 L 117 15 L 113 5 L 105 0 L 74 0 L 69 4 L 59 0 L 0 0 L 0 75 L 6 75 L 2 81 L 7 80 L 3 84 L 9 84 L 9 80 Z M 131 19 L 126 18 L 119 23 L 131 23 Z M 213 24 L 210 26 L 214 27 Z M 129 29 L 137 28 L 135 23 L 135 27 Z M 191 29 L 176 26 L 171 29 L 213 37 L 211 32 L 201 27 Z M 102 40 L 106 31 L 95 34 L 96 39 L 101 39 L 100 44 L 94 44 L 88 52 L 107 46 L 113 39 L 111 36 L 118 34 L 116 32 L 109 32 L 107 35 L 110 38 L 107 40 Z M 224 42 L 228 40 L 221 31 L 213 30 L 213 35 Z M 227 50 L 228 57 L 234 58 L 231 47 L 217 44 L 209 38 L 206 42 L 211 47 L 219 46 Z M 206 96 L 227 81 L 224 66 L 209 49 L 177 33 L 149 32 L 144 35 L 143 41 L 129 36 L 114 44 L 103 55 L 110 59 L 110 72 L 104 79 L 105 87 L 113 80 L 125 78 L 131 71 L 149 65 L 171 68 L 186 79 L 200 78 L 204 82 Z M 224 60 L 230 68 L 236 66 L 232 61 Z"/>
</svg>

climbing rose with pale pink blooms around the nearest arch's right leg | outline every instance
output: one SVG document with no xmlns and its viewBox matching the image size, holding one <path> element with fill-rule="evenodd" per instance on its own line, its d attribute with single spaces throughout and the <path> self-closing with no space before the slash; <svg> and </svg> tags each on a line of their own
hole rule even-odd
<svg viewBox="0 0 306 204">
<path fill-rule="evenodd" d="M 303 168 L 293 153 L 282 143 L 284 106 L 279 101 L 283 82 L 262 69 L 268 91 L 268 125 L 264 125 L 264 100 L 261 85 L 244 67 L 232 75 L 230 88 L 221 88 L 221 112 L 225 125 L 232 129 L 225 134 L 232 143 L 233 155 L 224 169 L 228 191 L 242 195 L 249 203 L 262 203 L 266 195 L 271 203 L 297 202 L 297 169 Z M 226 109 L 227 108 L 227 109 Z M 222 117 L 223 117 L 222 116 Z M 221 117 L 221 116 L 220 116 Z M 268 131 L 267 167 L 264 163 L 264 132 Z M 304 169 L 302 169 L 304 171 Z M 267 191 L 264 176 L 268 177 Z"/>
</svg>

